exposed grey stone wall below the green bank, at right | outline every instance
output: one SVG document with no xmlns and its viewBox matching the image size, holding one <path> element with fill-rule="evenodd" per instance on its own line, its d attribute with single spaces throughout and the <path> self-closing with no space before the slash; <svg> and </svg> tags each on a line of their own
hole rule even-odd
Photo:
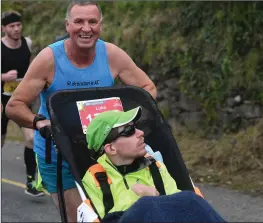
<svg viewBox="0 0 263 223">
<path fill-rule="evenodd" d="M 176 78 L 157 82 L 156 85 L 158 107 L 172 129 L 185 126 L 193 131 L 202 130 L 207 116 L 199 102 L 180 92 Z M 254 125 L 262 117 L 262 112 L 262 106 L 242 98 L 241 95 L 233 95 L 217 110 L 217 132 L 238 131 Z"/>
</svg>

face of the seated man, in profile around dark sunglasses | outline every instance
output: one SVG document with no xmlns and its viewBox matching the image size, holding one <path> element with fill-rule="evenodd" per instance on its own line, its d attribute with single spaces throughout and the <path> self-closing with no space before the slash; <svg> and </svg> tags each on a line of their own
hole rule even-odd
<svg viewBox="0 0 263 223">
<path fill-rule="evenodd" d="M 129 123 L 127 125 L 132 124 L 133 123 Z M 119 132 L 121 132 L 125 126 L 119 127 Z M 146 154 L 144 132 L 139 129 L 135 129 L 135 133 L 129 137 L 121 136 L 117 138 L 112 142 L 112 146 L 116 149 L 116 154 L 123 159 L 136 159 Z"/>
</svg>

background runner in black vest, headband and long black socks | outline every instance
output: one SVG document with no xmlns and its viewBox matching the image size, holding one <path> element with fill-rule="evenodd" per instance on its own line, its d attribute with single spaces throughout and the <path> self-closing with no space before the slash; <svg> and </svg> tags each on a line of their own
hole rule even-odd
<svg viewBox="0 0 263 223">
<path fill-rule="evenodd" d="M 31 57 L 31 40 L 21 36 L 21 15 L 15 11 L 2 14 L 2 31 L 5 33 L 1 41 L 1 101 L 3 109 L 10 99 L 14 89 L 24 77 Z M 7 132 L 8 117 L 3 110 L 1 119 L 1 147 L 3 147 Z M 36 160 L 33 151 L 34 132 L 22 128 L 25 138 L 24 161 L 27 173 L 27 188 L 25 193 L 31 196 L 43 196 L 44 193 L 35 188 Z"/>
</svg>

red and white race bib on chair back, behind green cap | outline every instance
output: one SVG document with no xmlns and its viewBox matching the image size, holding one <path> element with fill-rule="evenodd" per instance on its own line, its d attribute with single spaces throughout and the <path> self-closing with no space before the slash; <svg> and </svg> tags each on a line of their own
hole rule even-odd
<svg viewBox="0 0 263 223">
<path fill-rule="evenodd" d="M 111 110 L 123 111 L 121 100 L 118 97 L 77 101 L 77 107 L 84 134 L 86 134 L 87 127 L 91 120 L 101 112 Z"/>
</svg>

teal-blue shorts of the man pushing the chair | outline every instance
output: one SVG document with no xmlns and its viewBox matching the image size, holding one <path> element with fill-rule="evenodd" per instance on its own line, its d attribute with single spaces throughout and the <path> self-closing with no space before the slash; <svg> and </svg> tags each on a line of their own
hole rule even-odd
<svg viewBox="0 0 263 223">
<path fill-rule="evenodd" d="M 42 178 L 42 186 L 49 193 L 57 193 L 57 163 L 52 161 L 49 164 L 46 163 L 44 158 L 38 155 L 36 157 L 38 171 L 40 177 Z M 62 183 L 64 191 L 76 187 L 75 180 L 71 174 L 71 171 L 65 164 L 62 165 Z M 40 182 L 38 182 L 38 184 L 40 184 Z"/>
</svg>

